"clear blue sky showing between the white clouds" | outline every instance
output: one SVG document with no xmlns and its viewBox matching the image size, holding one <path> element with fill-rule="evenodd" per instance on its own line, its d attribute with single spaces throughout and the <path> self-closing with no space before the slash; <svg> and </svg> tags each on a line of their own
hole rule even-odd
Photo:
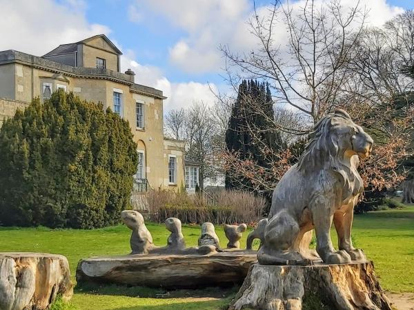
<svg viewBox="0 0 414 310">
<path fill-rule="evenodd" d="M 174 1 L 174 0 L 171 0 Z M 195 0 L 197 1 L 197 0 Z M 139 1 L 87 1 L 86 17 L 92 23 L 104 23 L 112 30 L 111 37 L 121 43 L 123 48 L 133 50 L 137 61 L 142 64 L 162 68 L 169 79 L 176 82 L 197 81 L 205 83 L 221 83 L 219 72 L 185 72 L 169 61 L 169 49 L 182 37 L 186 30 L 171 23 L 162 14 L 150 12 L 152 22 L 135 23 L 128 18 L 130 6 Z M 265 6 L 271 1 L 255 1 L 256 6 Z M 391 6 L 413 9 L 413 0 L 386 1 Z M 120 5 L 121 4 L 121 5 Z M 248 1 L 249 9 L 253 9 L 253 1 Z M 142 14 L 147 14 L 145 10 Z M 200 12 L 202 14 L 202 12 Z M 179 16 L 177 16 L 179 19 Z M 226 42 L 222 42 L 226 43 Z M 218 47 L 217 47 L 218 48 Z"/>
</svg>

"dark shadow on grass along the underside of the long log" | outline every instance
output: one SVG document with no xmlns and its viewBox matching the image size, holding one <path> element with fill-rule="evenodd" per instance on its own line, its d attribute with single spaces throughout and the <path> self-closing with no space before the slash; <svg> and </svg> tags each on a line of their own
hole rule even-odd
<svg viewBox="0 0 414 310">
<path fill-rule="evenodd" d="M 150 287 L 128 287 L 124 285 L 99 285 L 87 283 L 77 285 L 75 292 L 95 295 L 128 296 L 135 298 L 227 298 L 237 293 L 239 287 L 208 287 L 206 289 L 153 289 Z"/>
</svg>

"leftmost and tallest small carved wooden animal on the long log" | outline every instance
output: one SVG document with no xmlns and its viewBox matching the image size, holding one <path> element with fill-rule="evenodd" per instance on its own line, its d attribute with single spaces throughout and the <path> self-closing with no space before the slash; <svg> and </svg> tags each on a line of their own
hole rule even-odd
<svg viewBox="0 0 414 310">
<path fill-rule="evenodd" d="M 152 242 L 150 231 L 145 226 L 144 217 L 138 211 L 122 211 L 121 220 L 126 227 L 132 230 L 130 238 L 131 254 L 148 254 L 156 248 Z"/>
</svg>

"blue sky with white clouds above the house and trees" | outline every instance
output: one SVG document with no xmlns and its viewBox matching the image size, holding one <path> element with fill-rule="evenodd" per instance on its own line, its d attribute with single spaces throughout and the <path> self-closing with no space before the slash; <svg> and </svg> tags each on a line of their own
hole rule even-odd
<svg viewBox="0 0 414 310">
<path fill-rule="evenodd" d="M 0 0 L 0 50 L 41 56 L 59 44 L 106 34 L 124 53 L 121 70 L 131 68 L 136 83 L 168 96 L 164 111 L 194 100 L 212 104 L 214 92 L 228 89 L 219 46 L 254 49 L 246 22 L 254 6 L 265 11 L 272 1 Z M 369 10 L 368 23 L 377 26 L 414 9 L 413 0 L 360 1 Z M 344 6 L 356 2 L 342 0 Z"/>
</svg>

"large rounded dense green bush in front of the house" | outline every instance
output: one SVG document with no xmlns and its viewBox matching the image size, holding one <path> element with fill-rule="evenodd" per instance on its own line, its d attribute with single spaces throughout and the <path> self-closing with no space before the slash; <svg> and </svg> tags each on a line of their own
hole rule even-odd
<svg viewBox="0 0 414 310">
<path fill-rule="evenodd" d="M 130 206 L 136 144 L 128 122 L 59 90 L 0 130 L 2 225 L 90 229 Z"/>
</svg>

